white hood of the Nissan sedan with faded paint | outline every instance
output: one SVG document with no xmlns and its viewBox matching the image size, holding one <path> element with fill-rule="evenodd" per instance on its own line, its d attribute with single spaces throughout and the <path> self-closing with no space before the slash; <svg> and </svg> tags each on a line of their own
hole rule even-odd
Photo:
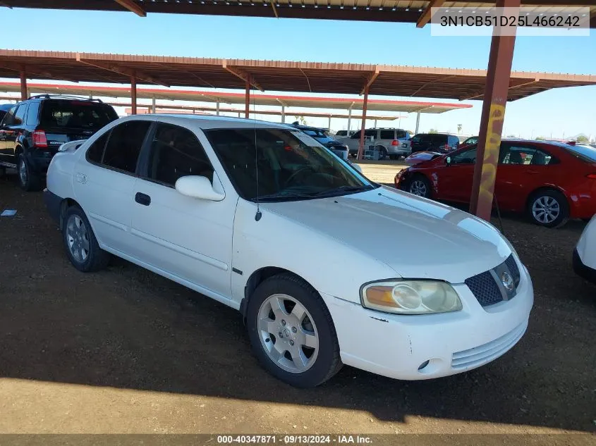
<svg viewBox="0 0 596 446">
<path fill-rule="evenodd" d="M 348 244 L 404 278 L 463 283 L 511 254 L 509 243 L 489 223 L 389 187 L 261 206 Z M 358 265 L 346 259 L 346 268 Z"/>
</svg>

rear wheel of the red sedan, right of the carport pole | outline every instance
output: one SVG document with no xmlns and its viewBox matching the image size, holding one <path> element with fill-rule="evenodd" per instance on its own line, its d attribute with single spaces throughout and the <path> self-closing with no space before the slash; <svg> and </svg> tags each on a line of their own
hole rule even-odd
<svg viewBox="0 0 596 446">
<path fill-rule="evenodd" d="M 530 196 L 527 212 L 535 225 L 560 228 L 569 219 L 569 204 L 558 190 L 543 189 Z"/>
</svg>

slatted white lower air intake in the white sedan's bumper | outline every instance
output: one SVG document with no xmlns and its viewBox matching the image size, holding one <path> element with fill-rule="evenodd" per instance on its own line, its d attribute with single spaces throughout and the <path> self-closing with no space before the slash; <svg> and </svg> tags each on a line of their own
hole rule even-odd
<svg viewBox="0 0 596 446">
<path fill-rule="evenodd" d="M 474 368 L 500 357 L 521 339 L 526 328 L 528 328 L 528 321 L 486 344 L 454 353 L 451 355 L 451 367 L 457 370 Z"/>
</svg>

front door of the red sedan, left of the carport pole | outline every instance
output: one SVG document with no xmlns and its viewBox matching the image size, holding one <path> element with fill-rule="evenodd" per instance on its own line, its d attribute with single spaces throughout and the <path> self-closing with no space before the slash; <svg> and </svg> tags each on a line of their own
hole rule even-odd
<svg viewBox="0 0 596 446">
<path fill-rule="evenodd" d="M 439 198 L 469 203 L 472 196 L 476 147 L 451 156 L 451 165 L 437 172 Z"/>
</svg>

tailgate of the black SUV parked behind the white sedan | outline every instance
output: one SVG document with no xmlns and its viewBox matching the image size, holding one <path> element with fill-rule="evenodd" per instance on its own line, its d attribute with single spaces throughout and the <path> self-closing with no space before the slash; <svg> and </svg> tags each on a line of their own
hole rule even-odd
<svg viewBox="0 0 596 446">
<path fill-rule="evenodd" d="M 116 120 L 114 109 L 95 101 L 47 99 L 39 114 L 39 130 L 44 130 L 53 152 L 69 141 L 87 140 L 97 130 Z"/>
</svg>

